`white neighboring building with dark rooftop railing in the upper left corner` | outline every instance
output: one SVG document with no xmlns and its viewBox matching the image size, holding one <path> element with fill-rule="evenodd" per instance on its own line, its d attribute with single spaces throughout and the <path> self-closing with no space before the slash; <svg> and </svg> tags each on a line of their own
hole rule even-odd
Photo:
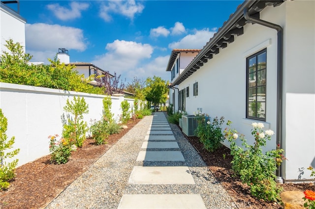
<svg viewBox="0 0 315 209">
<path fill-rule="evenodd" d="M 12 39 L 19 42 L 25 50 L 25 24 L 26 20 L 21 17 L 20 3 L 17 0 L 1 0 L 0 2 L 0 54 L 7 51 L 5 41 Z M 14 9 L 15 8 L 15 9 Z"/>
</svg>

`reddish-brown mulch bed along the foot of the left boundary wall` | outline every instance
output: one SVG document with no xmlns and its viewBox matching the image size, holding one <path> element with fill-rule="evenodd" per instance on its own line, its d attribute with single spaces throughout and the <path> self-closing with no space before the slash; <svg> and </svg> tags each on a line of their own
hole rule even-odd
<svg viewBox="0 0 315 209">
<path fill-rule="evenodd" d="M 0 191 L 0 208 L 44 208 L 139 121 L 130 120 L 128 128 L 110 135 L 107 144 L 96 146 L 93 139 L 86 139 L 83 147 L 73 152 L 65 164 L 50 164 L 48 155 L 16 168 L 10 187 Z"/>
</svg>

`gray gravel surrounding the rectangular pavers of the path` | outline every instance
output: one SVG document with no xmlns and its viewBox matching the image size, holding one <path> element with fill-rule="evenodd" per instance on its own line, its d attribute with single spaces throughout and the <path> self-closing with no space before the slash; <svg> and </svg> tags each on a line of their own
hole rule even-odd
<svg viewBox="0 0 315 209">
<path fill-rule="evenodd" d="M 185 162 L 138 162 L 136 158 L 153 116 L 146 116 L 100 157 L 85 173 L 71 183 L 47 209 L 117 209 L 123 194 L 200 194 L 208 209 L 236 209 L 231 197 L 211 174 L 202 158 L 180 129 L 174 133 Z M 152 149 L 151 151 L 154 151 Z M 188 166 L 195 184 L 128 184 L 134 166 Z"/>
</svg>

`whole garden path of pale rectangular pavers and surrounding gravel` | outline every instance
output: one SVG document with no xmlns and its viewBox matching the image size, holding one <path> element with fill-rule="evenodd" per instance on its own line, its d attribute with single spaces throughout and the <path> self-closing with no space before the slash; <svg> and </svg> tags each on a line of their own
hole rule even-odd
<svg viewBox="0 0 315 209">
<path fill-rule="evenodd" d="M 47 209 L 237 209 L 178 126 L 143 118 Z"/>
</svg>

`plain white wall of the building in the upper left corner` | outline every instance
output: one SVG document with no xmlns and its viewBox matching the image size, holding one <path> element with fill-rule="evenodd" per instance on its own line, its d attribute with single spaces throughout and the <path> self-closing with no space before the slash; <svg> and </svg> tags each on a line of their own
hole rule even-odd
<svg viewBox="0 0 315 209">
<path fill-rule="evenodd" d="M 26 21 L 20 18 L 14 12 L 8 11 L 6 6 L 1 4 L 0 7 L 0 53 L 7 51 L 4 44 L 6 40 L 12 39 L 15 43 L 19 42 L 25 50 L 25 23 Z"/>
</svg>

